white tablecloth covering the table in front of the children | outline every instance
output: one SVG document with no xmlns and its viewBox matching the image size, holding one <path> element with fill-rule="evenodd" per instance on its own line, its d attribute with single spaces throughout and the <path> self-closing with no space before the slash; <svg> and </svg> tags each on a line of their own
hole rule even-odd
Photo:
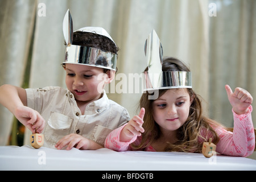
<svg viewBox="0 0 256 182">
<path fill-rule="evenodd" d="M 256 160 L 223 155 L 205 158 L 203 154 L 185 152 L 115 152 L 108 148 L 67 151 L 0 146 L 0 170 L 256 170 Z"/>
</svg>

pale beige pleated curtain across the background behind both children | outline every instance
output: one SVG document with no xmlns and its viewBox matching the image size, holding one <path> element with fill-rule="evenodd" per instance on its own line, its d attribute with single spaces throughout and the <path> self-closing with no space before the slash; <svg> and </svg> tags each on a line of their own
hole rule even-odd
<svg viewBox="0 0 256 182">
<path fill-rule="evenodd" d="M 19 6 L 19 2 L 24 5 Z M 2 35 L 3 30 L 5 34 L 9 33 L 10 39 L 16 38 L 15 32 L 11 31 L 14 27 L 10 28 L 6 24 L 20 23 L 24 26 L 23 21 L 31 28 L 31 23 L 34 22 L 34 14 L 31 12 L 36 11 L 31 88 L 49 85 L 65 87 L 64 71 L 60 65 L 64 57 L 62 22 L 69 9 L 74 30 L 85 26 L 104 27 L 119 46 L 118 73 L 109 88 L 125 88 L 125 85 L 120 86 L 120 82 L 125 81 L 123 75 L 126 75 L 129 82 L 132 78 L 129 74 L 140 74 L 144 70 L 144 42 L 152 29 L 155 29 L 162 42 L 164 56 L 177 57 L 191 68 L 193 88 L 204 98 L 204 111 L 207 115 L 228 127 L 233 126 L 232 108 L 225 93 L 225 84 L 229 84 L 232 89 L 236 86 L 245 88 L 256 97 L 254 0 L 44 0 L 13 3 L 2 0 L 1 3 L 4 5 L 0 7 L 2 16 L 13 16 L 14 13 L 7 11 L 7 7 L 16 8 L 15 14 L 19 15 L 19 19 L 0 19 L 2 42 L 7 39 L 7 36 Z M 45 5 L 45 12 L 42 13 L 43 7 L 38 6 L 39 3 Z M 216 9 L 209 5 L 216 5 Z M 27 7 L 26 13 L 24 7 Z M 20 85 L 25 56 L 19 53 L 19 58 L 5 58 L 15 55 L 16 52 L 7 51 L 13 47 L 26 52 L 27 47 L 23 44 L 30 42 L 31 34 L 26 31 L 26 27 L 19 27 L 19 30 L 26 32 L 26 36 L 22 36 L 24 41 L 19 44 L 11 42 L 7 46 L 1 44 L 0 61 L 6 65 L 1 68 L 1 84 Z M 15 60 L 14 65 L 19 68 L 15 71 L 15 78 L 12 78 L 13 74 L 5 74 L 14 70 L 9 65 L 12 64 L 10 60 Z M 126 107 L 131 116 L 137 113 L 141 92 L 130 93 L 129 88 L 126 88 L 121 93 L 110 92 L 108 95 L 110 99 Z M 7 115 L 2 107 L 1 112 L 0 117 Z M 253 112 L 253 118 L 255 117 Z M 10 130 L 10 126 L 7 127 L 6 124 L 9 125 L 10 120 L 11 118 L 1 118 L 1 130 L 2 126 Z M 1 135 L 1 140 L 6 138 L 7 135 Z"/>
</svg>

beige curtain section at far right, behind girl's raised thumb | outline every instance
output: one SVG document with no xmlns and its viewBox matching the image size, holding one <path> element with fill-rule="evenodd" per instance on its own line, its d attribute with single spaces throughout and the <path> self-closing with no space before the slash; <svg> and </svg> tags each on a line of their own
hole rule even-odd
<svg viewBox="0 0 256 182">
<path fill-rule="evenodd" d="M 255 98 L 256 3 L 255 1 L 212 1 L 218 6 L 217 16 L 210 18 L 210 117 L 233 127 L 232 106 L 225 84 L 241 87 Z M 255 101 L 253 107 L 255 107 Z M 253 119 L 256 113 L 252 113 Z M 254 126 L 256 122 L 254 121 Z"/>
</svg>

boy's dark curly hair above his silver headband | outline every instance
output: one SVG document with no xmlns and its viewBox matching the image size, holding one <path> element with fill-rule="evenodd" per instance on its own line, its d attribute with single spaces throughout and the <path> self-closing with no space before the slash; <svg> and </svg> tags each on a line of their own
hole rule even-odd
<svg viewBox="0 0 256 182">
<path fill-rule="evenodd" d="M 108 51 L 115 54 L 117 54 L 117 52 L 119 51 L 119 48 L 117 47 L 117 45 L 115 45 L 115 43 L 111 39 L 107 38 L 106 36 L 99 35 L 96 33 L 91 33 L 91 32 L 82 32 L 82 31 L 73 32 L 72 44 L 77 46 L 94 47 L 94 48 L 101 49 L 102 51 Z M 98 60 L 98 61 L 102 61 L 103 62 L 101 63 L 102 65 L 104 65 L 104 62 L 106 62 L 106 60 L 104 59 Z M 63 64 L 63 67 L 65 68 L 65 64 Z M 109 69 L 104 68 L 104 73 L 106 73 L 108 70 Z"/>
</svg>

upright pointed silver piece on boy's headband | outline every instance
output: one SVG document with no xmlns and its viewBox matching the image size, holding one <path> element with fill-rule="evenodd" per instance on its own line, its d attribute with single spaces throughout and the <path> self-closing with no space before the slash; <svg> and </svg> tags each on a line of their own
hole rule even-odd
<svg viewBox="0 0 256 182">
<path fill-rule="evenodd" d="M 73 40 L 73 21 L 69 9 L 63 19 L 63 34 L 66 45 L 71 46 Z"/>
</svg>

